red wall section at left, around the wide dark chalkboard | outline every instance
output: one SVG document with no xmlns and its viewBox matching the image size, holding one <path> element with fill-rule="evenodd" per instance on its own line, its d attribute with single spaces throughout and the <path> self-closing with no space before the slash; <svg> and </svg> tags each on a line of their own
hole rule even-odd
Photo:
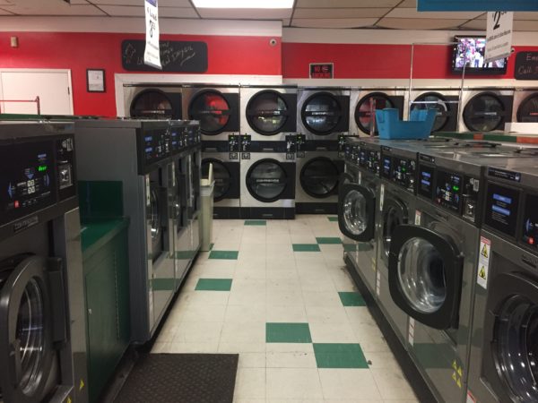
<svg viewBox="0 0 538 403">
<path fill-rule="evenodd" d="M 19 47 L 10 47 L 10 37 Z M 75 115 L 116 116 L 115 73 L 121 65 L 121 42 L 143 35 L 73 32 L 10 32 L 0 35 L 0 67 L 71 69 Z M 282 47 L 270 37 L 161 35 L 164 40 L 202 40 L 208 47 L 207 74 L 281 75 Z M 104 93 L 86 91 L 86 69 L 106 71 Z"/>
</svg>

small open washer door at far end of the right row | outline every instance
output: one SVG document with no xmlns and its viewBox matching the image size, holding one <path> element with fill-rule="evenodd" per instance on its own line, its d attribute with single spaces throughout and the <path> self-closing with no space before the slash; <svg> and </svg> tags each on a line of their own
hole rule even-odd
<svg viewBox="0 0 538 403">
<path fill-rule="evenodd" d="M 369 187 L 344 183 L 338 195 L 338 226 L 353 241 L 369 242 L 376 225 L 376 194 Z"/>
</svg>

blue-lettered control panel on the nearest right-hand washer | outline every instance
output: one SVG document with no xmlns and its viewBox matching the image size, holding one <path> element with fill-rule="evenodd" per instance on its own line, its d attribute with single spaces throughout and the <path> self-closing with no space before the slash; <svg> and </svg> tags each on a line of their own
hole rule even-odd
<svg viewBox="0 0 538 403">
<path fill-rule="evenodd" d="M 511 187 L 488 184 L 484 223 L 508 236 L 516 236 L 519 192 Z"/>
</svg>

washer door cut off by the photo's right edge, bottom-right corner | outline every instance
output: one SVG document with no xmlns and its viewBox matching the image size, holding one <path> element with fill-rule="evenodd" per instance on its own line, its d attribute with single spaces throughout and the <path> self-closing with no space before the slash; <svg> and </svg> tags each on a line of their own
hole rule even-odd
<svg viewBox="0 0 538 403">
<path fill-rule="evenodd" d="M 503 273 L 489 288 L 483 374 L 500 401 L 538 401 L 538 282 Z"/>
</svg>

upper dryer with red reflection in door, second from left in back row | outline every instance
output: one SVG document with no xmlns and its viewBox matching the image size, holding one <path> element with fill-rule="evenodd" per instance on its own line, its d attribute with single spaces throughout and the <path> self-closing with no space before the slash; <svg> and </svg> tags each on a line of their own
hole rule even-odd
<svg viewBox="0 0 538 403">
<path fill-rule="evenodd" d="M 228 140 L 239 134 L 239 86 L 186 84 L 183 117 L 200 122 L 202 140 Z"/>
</svg>

